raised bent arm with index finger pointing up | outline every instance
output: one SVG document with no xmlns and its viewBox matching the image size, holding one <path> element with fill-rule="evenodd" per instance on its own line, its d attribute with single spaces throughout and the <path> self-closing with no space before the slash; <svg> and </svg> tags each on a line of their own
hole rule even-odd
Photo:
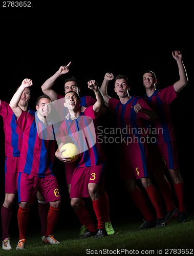
<svg viewBox="0 0 194 256">
<path fill-rule="evenodd" d="M 60 66 L 59 70 L 50 78 L 48 78 L 41 86 L 42 92 L 47 94 L 52 101 L 57 100 L 57 93 L 54 90 L 52 90 L 52 87 L 59 76 L 67 74 L 69 72 L 70 64 L 71 61 L 67 66 Z"/>
</svg>

